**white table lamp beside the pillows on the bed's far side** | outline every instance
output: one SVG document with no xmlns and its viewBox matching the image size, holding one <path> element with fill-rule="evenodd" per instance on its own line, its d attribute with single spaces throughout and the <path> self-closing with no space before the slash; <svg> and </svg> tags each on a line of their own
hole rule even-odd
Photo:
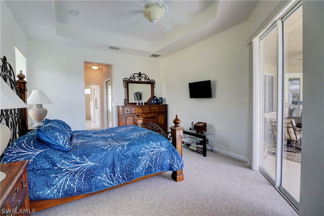
<svg viewBox="0 0 324 216">
<path fill-rule="evenodd" d="M 42 90 L 32 90 L 27 98 L 27 104 L 34 104 L 33 109 L 29 110 L 29 116 L 34 120 L 33 127 L 43 125 L 43 121 L 47 115 L 47 110 L 43 108 L 44 103 L 53 103 Z"/>
</svg>

